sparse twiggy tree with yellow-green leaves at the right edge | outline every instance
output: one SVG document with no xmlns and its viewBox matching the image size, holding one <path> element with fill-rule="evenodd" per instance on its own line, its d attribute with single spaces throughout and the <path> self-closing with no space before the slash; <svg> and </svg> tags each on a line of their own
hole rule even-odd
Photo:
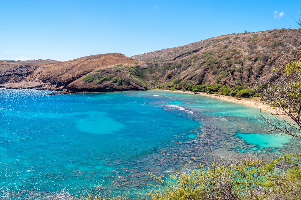
<svg viewBox="0 0 301 200">
<path fill-rule="evenodd" d="M 301 18 L 297 22 L 301 26 Z M 288 31 L 289 51 L 295 56 L 284 56 L 287 64 L 272 70 L 272 81 L 259 79 L 256 91 L 262 100 L 275 108 L 275 117 L 261 113 L 262 121 L 269 124 L 268 131 L 282 131 L 301 139 L 301 33 L 299 29 Z"/>
</svg>

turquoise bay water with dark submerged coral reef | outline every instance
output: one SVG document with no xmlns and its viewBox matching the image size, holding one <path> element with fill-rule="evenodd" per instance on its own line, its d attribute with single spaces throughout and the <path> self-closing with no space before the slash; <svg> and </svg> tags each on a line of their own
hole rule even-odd
<svg viewBox="0 0 301 200">
<path fill-rule="evenodd" d="M 168 175 L 196 154 L 211 157 L 300 149 L 263 134 L 259 110 L 166 91 L 47 95 L 0 89 L 0 197 L 75 194 L 83 187 L 144 193 L 148 172 Z"/>
</svg>

